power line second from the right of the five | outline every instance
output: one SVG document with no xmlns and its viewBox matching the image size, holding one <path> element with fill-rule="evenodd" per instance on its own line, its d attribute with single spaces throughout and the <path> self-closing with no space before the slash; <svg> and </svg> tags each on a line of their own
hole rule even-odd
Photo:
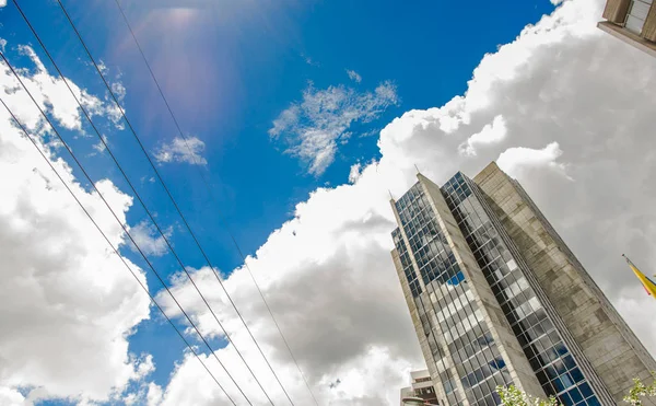
<svg viewBox="0 0 656 406">
<path fill-rule="evenodd" d="M 16 2 L 16 0 L 13 0 L 14 3 Z M 137 135 L 137 132 L 134 131 L 134 128 L 132 127 L 132 125 L 130 124 L 128 117 L 125 114 L 125 111 L 122 109 L 120 103 L 118 102 L 116 95 L 114 94 L 114 91 L 112 90 L 112 86 L 109 85 L 109 83 L 107 83 L 105 77 L 103 76 L 102 70 L 99 69 L 99 67 L 97 66 L 95 59 L 93 58 L 93 56 L 91 55 L 91 51 L 89 50 L 86 44 L 84 43 L 84 39 L 82 38 L 80 32 L 78 31 L 75 24 L 73 23 L 73 21 L 71 20 L 70 15 L 68 14 L 63 3 L 60 0 L 57 0 L 57 2 L 59 3 L 61 10 L 63 11 L 67 20 L 69 21 L 71 27 L 73 28 L 73 31 L 75 32 L 80 43 L 82 44 L 82 46 L 84 47 L 84 50 L 86 51 L 90 60 L 92 61 L 92 63 L 94 65 L 96 71 L 98 72 L 101 79 L 103 80 L 103 82 L 105 83 L 105 86 L 107 88 L 107 91 L 109 92 L 109 94 L 112 95 L 112 98 L 114 100 L 114 102 L 116 103 L 116 106 L 119 108 L 121 116 L 124 118 L 124 120 L 126 121 L 126 124 L 128 125 L 130 131 L 132 132 L 132 135 L 134 136 L 137 142 L 139 143 L 139 147 L 141 148 L 141 150 L 143 151 L 144 155 L 147 156 L 149 163 L 151 164 L 153 171 L 155 172 L 155 175 L 157 176 L 157 179 L 160 181 L 160 183 L 162 184 L 162 186 L 164 187 L 164 190 L 166 192 L 168 198 L 172 200 L 176 211 L 178 212 L 178 214 L 180 216 L 183 222 L 185 223 L 185 227 L 187 228 L 187 230 L 189 231 L 189 234 L 191 235 L 191 237 L 194 239 L 196 245 L 198 246 L 198 248 L 200 250 L 202 256 L 204 257 L 206 262 L 208 263 L 208 265 L 210 266 L 210 268 L 212 269 L 216 280 L 219 281 L 219 283 L 221 285 L 221 288 L 223 289 L 224 293 L 226 294 L 229 301 L 231 302 L 232 306 L 235 309 L 235 312 L 237 313 L 239 320 L 242 321 L 242 323 L 244 324 L 244 326 L 246 327 L 246 330 L 248 332 L 250 338 L 253 339 L 253 341 L 255 343 L 258 351 L 260 352 L 260 355 L 262 356 L 262 358 L 265 359 L 265 362 L 267 363 L 267 366 L 269 367 L 269 369 L 271 370 L 271 373 L 273 374 L 273 376 L 276 378 L 276 381 L 278 382 L 278 384 L 280 385 L 280 387 L 282 388 L 282 391 L 284 392 L 286 398 L 290 401 L 290 403 L 292 405 L 294 405 L 293 401 L 291 399 L 290 395 L 288 394 L 286 390 L 284 388 L 284 386 L 282 385 L 282 382 L 280 381 L 280 379 L 278 378 L 278 374 L 276 373 L 276 371 L 273 370 L 273 367 L 271 366 L 271 363 L 269 362 L 267 356 L 263 353 L 261 347 L 259 346 L 259 344 L 257 343 L 257 339 L 255 338 L 255 336 L 253 335 L 253 332 L 250 330 L 250 328 L 248 327 L 246 321 L 244 320 L 244 317 L 242 316 L 239 310 L 237 309 L 237 306 L 235 305 L 234 301 L 232 300 L 232 297 L 230 295 L 230 293 L 227 293 L 227 290 L 225 289 L 225 287 L 223 286 L 223 282 L 221 281 L 221 277 L 219 276 L 219 272 L 216 271 L 216 268 L 211 264 L 210 258 L 208 257 L 208 255 L 206 254 L 204 250 L 202 248 L 202 246 L 200 245 L 200 242 L 198 241 L 198 239 L 196 237 L 196 234 L 194 233 L 194 231 L 191 230 L 191 228 L 189 227 L 189 223 L 187 222 L 187 220 L 185 219 L 185 216 L 183 214 L 181 210 L 179 209 L 177 202 L 175 201 L 175 198 L 173 197 L 173 195 L 171 194 L 168 187 L 166 186 L 166 183 L 164 182 L 164 179 L 162 178 L 162 176 L 160 175 L 160 172 L 157 171 L 155 164 L 152 162 L 152 159 L 150 156 L 150 154 L 148 153 L 148 151 L 145 150 L 145 148 L 143 147 L 143 143 L 141 142 L 141 140 L 139 139 L 139 136 Z M 164 236 L 164 234 L 162 233 L 162 235 Z M 165 239 L 165 236 L 164 236 Z M 166 240 L 166 239 L 165 239 Z M 226 336 L 230 339 L 230 336 L 226 334 Z M 234 344 L 233 344 L 234 346 Z M 235 349 L 236 346 L 234 346 Z M 237 350 L 238 352 L 238 350 Z M 255 375 L 254 375 L 255 378 Z M 257 381 L 257 378 L 256 378 Z M 260 385 L 261 386 L 261 385 Z M 263 388 L 262 388 L 263 391 Z M 265 391 L 266 393 L 266 391 Z"/>
</svg>

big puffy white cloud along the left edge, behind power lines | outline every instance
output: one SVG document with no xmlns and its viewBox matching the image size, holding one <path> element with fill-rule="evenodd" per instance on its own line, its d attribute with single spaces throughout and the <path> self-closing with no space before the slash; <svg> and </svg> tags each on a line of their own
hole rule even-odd
<svg viewBox="0 0 656 406">
<path fill-rule="evenodd" d="M 49 76 L 31 48 L 20 49 L 36 66 L 21 74 L 40 107 L 58 125 L 80 129 L 77 104 L 63 83 Z M 101 105 L 96 96 L 70 84 L 90 108 Z M 115 246 L 121 244 L 122 230 L 97 194 L 86 192 L 44 142 L 46 127 L 38 109 L 4 63 L 0 86 L 4 103 L 107 237 Z M 0 403 L 108 401 L 145 373 L 143 362 L 128 352 L 128 336 L 149 317 L 148 295 L 3 107 L 0 174 Z M 96 185 L 125 222 L 132 198 L 110 181 Z M 141 269 L 126 262 L 145 283 Z"/>
</svg>

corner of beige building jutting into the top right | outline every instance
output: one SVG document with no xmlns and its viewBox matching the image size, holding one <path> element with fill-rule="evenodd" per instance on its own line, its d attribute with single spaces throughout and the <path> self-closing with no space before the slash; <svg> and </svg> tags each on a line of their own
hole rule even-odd
<svg viewBox="0 0 656 406">
<path fill-rule="evenodd" d="M 599 28 L 656 56 L 656 5 L 654 0 L 607 0 Z"/>
</svg>

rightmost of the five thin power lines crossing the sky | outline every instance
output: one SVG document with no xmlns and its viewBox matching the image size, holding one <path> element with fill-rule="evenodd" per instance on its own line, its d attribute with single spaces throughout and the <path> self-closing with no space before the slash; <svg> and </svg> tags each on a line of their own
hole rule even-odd
<svg viewBox="0 0 656 406">
<path fill-rule="evenodd" d="M 171 107 L 171 105 L 168 104 L 168 101 L 166 100 L 166 96 L 164 95 L 164 91 L 162 90 L 162 86 L 160 85 L 160 82 L 157 81 L 157 78 L 155 77 L 155 73 L 152 70 L 152 68 L 151 68 L 151 66 L 150 66 L 150 63 L 148 61 L 148 58 L 145 57 L 145 54 L 144 54 L 143 49 L 141 48 L 141 44 L 137 39 L 137 35 L 134 34 L 134 31 L 132 30 L 132 26 L 131 26 L 131 24 L 130 24 L 130 22 L 129 22 L 129 20 L 127 18 L 127 15 L 126 15 L 126 13 L 125 13 L 125 10 L 120 5 L 120 1 L 119 0 L 115 0 L 115 2 L 116 2 L 116 5 L 118 7 L 118 10 L 120 11 L 120 14 L 121 14 L 121 16 L 122 16 L 122 19 L 124 19 L 124 21 L 125 21 L 128 30 L 130 31 L 130 35 L 132 36 L 132 39 L 134 40 L 134 44 L 137 45 L 137 48 L 139 49 L 139 53 L 141 54 L 141 57 L 142 57 L 142 59 L 143 59 L 143 61 L 144 61 L 144 63 L 145 63 L 145 66 L 148 68 L 148 71 L 150 72 L 151 78 L 153 79 L 153 81 L 154 81 L 154 83 L 155 83 L 155 85 L 157 88 L 157 91 L 159 91 L 160 95 L 162 96 L 162 100 L 164 101 L 164 104 L 166 105 L 166 109 L 168 111 L 168 113 L 171 115 L 171 118 L 173 119 L 173 123 L 175 124 L 175 127 L 178 130 L 178 134 L 183 138 L 184 143 L 187 147 L 187 149 L 189 150 L 189 152 L 192 152 L 191 148 L 189 147 L 187 136 L 185 136 L 185 134 L 183 132 L 183 130 L 181 130 L 181 128 L 180 128 L 180 126 L 178 124 L 178 120 L 175 117 L 175 114 L 173 113 L 173 108 Z M 219 206 L 219 204 L 218 204 L 214 195 L 212 194 L 212 188 L 211 188 L 208 179 L 206 178 L 204 174 L 202 173 L 202 171 L 198 166 L 198 164 L 199 164 L 198 158 L 194 153 L 191 153 L 190 155 L 194 156 L 194 160 L 195 160 L 195 163 L 196 163 L 195 166 L 196 166 L 196 169 L 197 169 L 197 171 L 198 171 L 198 173 L 199 173 L 199 175 L 200 175 L 200 177 L 201 177 L 201 179 L 202 179 L 206 188 L 208 189 L 208 194 L 210 195 L 210 198 L 213 200 L 213 202 L 216 206 Z M 265 305 L 267 308 L 267 311 L 269 312 L 269 315 L 271 316 L 271 320 L 273 321 L 273 324 L 276 325 L 276 328 L 278 329 L 278 333 L 280 334 L 280 337 L 284 341 L 284 345 L 285 345 L 285 347 L 286 347 L 290 356 L 292 357 L 292 360 L 294 361 L 294 364 L 296 366 L 296 369 L 298 370 L 298 373 L 301 374 L 301 378 L 305 382 L 305 386 L 307 387 L 307 391 L 309 392 L 312 398 L 314 399 L 314 403 L 318 406 L 318 402 L 317 402 L 317 399 L 316 399 L 316 397 L 315 397 L 315 395 L 314 395 L 314 393 L 313 393 L 313 391 L 312 391 L 312 388 L 309 386 L 309 383 L 307 382 L 307 379 L 305 378 L 305 374 L 303 373 L 303 371 L 302 371 L 298 362 L 296 361 L 296 357 L 294 357 L 294 353 L 293 353 L 293 351 L 292 351 L 292 349 L 291 349 L 291 347 L 290 347 L 286 338 L 284 337 L 284 334 L 282 333 L 282 329 L 280 328 L 280 325 L 278 324 L 278 321 L 276 320 L 276 316 L 273 315 L 273 312 L 271 311 L 271 308 L 269 306 L 269 303 L 268 303 L 267 299 L 265 298 L 265 295 L 263 295 L 263 293 L 262 293 L 262 291 L 261 291 L 261 289 L 259 287 L 259 283 L 257 282 L 257 280 L 256 280 L 253 271 L 250 270 L 250 267 L 246 263 L 246 257 L 243 254 L 242 248 L 239 247 L 239 244 L 237 243 L 237 241 L 236 241 L 236 239 L 235 239 L 232 230 L 227 225 L 227 221 L 223 218 L 223 216 L 221 214 L 220 211 L 218 211 L 218 214 L 219 214 L 219 219 L 220 219 L 221 223 L 223 224 L 224 229 L 230 234 L 234 246 L 236 247 L 237 252 L 239 253 L 239 256 L 242 257 L 242 260 L 244 262 L 244 265 L 246 266 L 246 269 L 248 270 L 250 279 L 255 283 L 255 287 L 257 288 L 257 291 L 259 292 L 259 295 L 262 299 L 262 302 L 265 303 Z"/>
</svg>

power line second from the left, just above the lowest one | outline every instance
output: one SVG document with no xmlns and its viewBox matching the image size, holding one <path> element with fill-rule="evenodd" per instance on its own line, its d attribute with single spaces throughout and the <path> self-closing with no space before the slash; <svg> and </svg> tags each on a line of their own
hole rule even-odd
<svg viewBox="0 0 656 406">
<path fill-rule="evenodd" d="M 246 394 L 244 394 L 244 392 L 242 391 L 242 387 L 237 384 L 237 382 L 234 380 L 234 378 L 232 376 L 232 374 L 227 371 L 227 369 L 225 368 L 225 366 L 223 366 L 223 362 L 221 362 L 221 360 L 219 359 L 219 357 L 216 356 L 216 353 L 214 352 L 214 350 L 212 349 L 212 347 L 210 346 L 210 344 L 207 341 L 207 339 L 204 338 L 204 336 L 200 333 L 200 330 L 198 329 L 198 327 L 196 326 L 196 324 L 191 321 L 191 317 L 189 317 L 189 315 L 187 314 L 187 312 L 185 312 L 185 310 L 179 304 L 179 302 L 177 301 L 177 299 L 175 298 L 175 295 L 173 294 L 173 292 L 168 289 L 168 287 L 166 286 L 166 283 L 164 282 L 164 280 L 160 276 L 160 274 L 155 270 L 155 268 L 153 267 L 153 265 L 151 264 L 151 262 L 148 259 L 148 257 L 145 256 L 145 254 L 143 254 L 143 252 L 141 251 L 141 248 L 139 247 L 139 245 L 137 244 L 137 242 L 134 241 L 134 239 L 132 237 L 132 235 L 130 234 L 130 232 L 127 230 L 126 225 L 120 221 L 120 219 L 118 218 L 118 216 L 114 212 L 114 210 L 112 209 L 112 206 L 107 202 L 107 200 L 105 199 L 105 197 L 103 196 L 103 194 L 101 193 L 101 190 L 97 188 L 97 186 L 95 185 L 95 183 L 92 181 L 91 176 L 89 176 L 89 173 L 84 170 L 84 166 L 80 163 L 80 161 L 78 160 L 78 158 L 75 156 L 75 154 L 73 153 L 73 151 L 71 150 L 71 148 L 63 140 L 63 138 L 61 137 L 61 135 L 59 134 L 59 131 L 57 130 L 57 128 L 55 127 L 55 125 L 52 124 L 52 121 L 50 120 L 50 118 L 46 115 L 46 113 L 43 111 L 43 108 L 38 105 L 38 103 L 34 98 L 34 96 L 32 95 L 32 93 L 25 86 L 25 83 L 23 83 L 23 80 L 21 79 L 21 77 L 16 73 L 16 71 L 14 70 L 14 68 L 12 67 L 12 65 L 9 62 L 9 60 L 7 59 L 7 57 L 4 56 L 4 54 L 1 50 L 0 50 L 0 56 L 2 57 L 2 59 L 4 60 L 4 62 L 7 63 L 7 66 L 9 67 L 9 69 L 11 69 L 12 73 L 14 74 L 14 77 L 19 80 L 19 82 L 21 83 L 23 90 L 25 90 L 25 92 L 27 93 L 27 95 L 30 96 L 30 98 L 32 100 L 32 102 L 34 103 L 34 105 L 36 105 L 36 107 L 40 112 L 42 116 L 46 119 L 46 121 L 48 123 L 48 125 L 50 126 L 50 128 L 52 128 L 52 131 L 55 132 L 55 135 L 57 136 L 57 138 L 59 139 L 59 141 L 65 146 L 66 150 L 69 152 L 69 154 L 71 155 L 71 158 L 75 161 L 75 163 L 78 164 L 78 166 L 80 167 L 80 170 L 82 171 L 82 173 L 84 174 L 84 176 L 86 177 L 86 179 L 93 186 L 94 190 L 98 194 L 98 196 L 101 197 L 101 199 L 103 200 L 103 202 L 105 204 L 105 206 L 109 209 L 109 211 L 112 212 L 112 216 L 114 217 L 114 219 L 119 223 L 119 225 L 121 227 L 121 229 L 124 230 L 124 232 L 126 233 L 126 235 L 128 235 L 128 237 L 130 239 L 130 241 L 132 242 L 132 244 L 134 244 L 134 247 L 137 248 L 137 251 L 139 252 L 139 254 L 141 254 L 141 256 L 143 257 L 143 259 L 145 260 L 145 263 L 148 264 L 148 266 L 155 274 L 155 276 L 160 280 L 160 282 L 162 283 L 162 286 L 164 286 L 164 288 L 166 289 L 166 291 L 168 292 L 168 294 L 171 295 L 171 298 L 173 299 L 173 301 L 176 303 L 176 305 L 178 306 L 178 309 L 180 310 L 180 312 L 185 315 L 185 317 L 187 318 L 187 321 L 191 324 L 191 326 L 194 327 L 194 329 L 196 330 L 196 333 L 198 333 L 198 335 L 200 336 L 200 338 L 202 339 L 202 341 L 204 343 L 204 345 L 208 347 L 208 349 L 210 350 L 210 352 L 212 352 L 212 355 L 214 356 L 214 358 L 216 359 L 216 361 L 219 362 L 219 364 L 223 368 L 223 370 L 225 371 L 225 373 L 227 373 L 227 375 L 233 381 L 233 383 L 235 384 L 235 386 L 237 386 L 237 390 L 239 390 L 239 392 L 242 393 L 242 395 L 244 396 L 244 398 L 246 398 L 246 402 L 248 402 L 249 405 L 253 405 L 253 403 L 250 403 L 250 401 L 248 399 L 248 397 L 246 396 Z M 66 79 L 65 79 L 65 82 L 66 82 Z M 233 404 L 234 404 L 234 402 L 233 402 Z"/>
</svg>

